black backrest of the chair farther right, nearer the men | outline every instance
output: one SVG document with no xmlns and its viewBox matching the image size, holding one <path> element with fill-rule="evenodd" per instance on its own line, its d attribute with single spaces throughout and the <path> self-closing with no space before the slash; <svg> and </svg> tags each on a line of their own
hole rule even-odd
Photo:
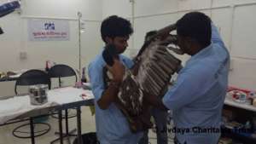
<svg viewBox="0 0 256 144">
<path fill-rule="evenodd" d="M 78 81 L 78 77 L 76 72 L 73 70 L 72 67 L 58 64 L 55 66 L 50 67 L 48 71 L 49 78 L 59 78 L 59 86 L 61 86 L 61 78 L 62 77 L 72 77 L 76 78 L 76 82 Z"/>
</svg>

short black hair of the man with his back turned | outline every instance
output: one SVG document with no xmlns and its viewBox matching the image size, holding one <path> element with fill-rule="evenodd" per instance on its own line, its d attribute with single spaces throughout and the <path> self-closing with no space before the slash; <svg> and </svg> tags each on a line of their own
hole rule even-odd
<svg viewBox="0 0 256 144">
<path fill-rule="evenodd" d="M 185 14 L 180 20 L 177 20 L 177 35 L 190 37 L 205 48 L 211 43 L 211 23 L 212 20 L 201 12 Z"/>
</svg>

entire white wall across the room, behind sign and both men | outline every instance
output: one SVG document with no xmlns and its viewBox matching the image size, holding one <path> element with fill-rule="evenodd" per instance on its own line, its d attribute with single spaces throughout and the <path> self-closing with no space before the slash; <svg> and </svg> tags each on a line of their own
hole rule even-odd
<svg viewBox="0 0 256 144">
<path fill-rule="evenodd" d="M 0 0 L 3 2 L 7 0 Z M 238 3 L 256 3 L 256 0 L 135 0 L 134 11 L 130 0 L 22 0 L 21 15 L 13 13 L 0 19 L 5 32 L 0 36 L 0 71 L 44 67 L 45 60 L 78 68 L 78 11 L 82 12 L 85 23 L 85 33 L 81 35 L 82 66 L 87 66 L 103 46 L 100 26 L 102 19 L 109 15 L 117 14 L 134 21 L 135 33 L 125 54 L 135 55 L 146 32 L 176 22 L 191 10 L 200 10 L 212 16 L 230 49 L 233 66 L 230 85 L 256 90 L 256 77 L 253 75 L 256 71 L 256 51 L 253 50 L 256 5 L 236 6 Z M 132 12 L 134 19 L 131 19 Z M 31 18 L 67 20 L 70 40 L 28 41 L 27 20 Z M 26 52 L 26 60 L 20 60 L 20 52 Z M 188 55 L 181 57 L 183 61 L 188 58 Z M 13 82 L 0 83 L 0 94 L 13 94 L 13 88 Z"/>
</svg>

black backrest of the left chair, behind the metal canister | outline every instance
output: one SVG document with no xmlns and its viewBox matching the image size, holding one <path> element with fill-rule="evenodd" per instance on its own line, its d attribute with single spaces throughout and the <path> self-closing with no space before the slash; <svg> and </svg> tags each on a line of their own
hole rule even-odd
<svg viewBox="0 0 256 144">
<path fill-rule="evenodd" d="M 50 89 L 50 79 L 46 72 L 41 70 L 28 70 L 20 75 L 20 77 L 16 80 L 15 83 L 15 94 L 17 93 L 17 86 L 28 86 L 35 84 L 48 84 Z"/>
</svg>

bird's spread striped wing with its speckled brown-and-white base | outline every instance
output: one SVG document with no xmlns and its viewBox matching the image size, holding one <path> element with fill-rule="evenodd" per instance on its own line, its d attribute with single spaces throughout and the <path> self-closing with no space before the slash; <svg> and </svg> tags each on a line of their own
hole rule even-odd
<svg viewBox="0 0 256 144">
<path fill-rule="evenodd" d="M 133 68 L 126 69 L 125 77 L 119 89 L 119 100 L 132 116 L 139 115 L 143 110 L 145 93 L 159 96 L 166 89 L 174 72 L 181 68 L 178 60 L 167 49 L 176 37 L 156 39 L 143 46 Z"/>
</svg>

